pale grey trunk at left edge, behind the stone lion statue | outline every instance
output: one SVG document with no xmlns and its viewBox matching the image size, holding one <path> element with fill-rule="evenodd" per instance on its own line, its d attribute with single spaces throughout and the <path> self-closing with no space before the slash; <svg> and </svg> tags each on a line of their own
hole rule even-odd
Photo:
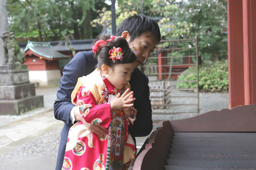
<svg viewBox="0 0 256 170">
<path fill-rule="evenodd" d="M 7 13 L 7 2 L 8 0 L 1 0 L 0 1 L 0 36 L 3 35 L 3 33 L 8 31 L 8 13 Z M 2 38 L 0 38 L 0 65 L 4 64 L 5 60 L 5 51 L 4 51 L 4 42 Z"/>
</svg>

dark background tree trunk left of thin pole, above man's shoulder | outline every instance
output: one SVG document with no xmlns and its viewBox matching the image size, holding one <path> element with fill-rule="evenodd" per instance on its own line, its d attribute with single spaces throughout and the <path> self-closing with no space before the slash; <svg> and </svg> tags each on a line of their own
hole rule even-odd
<svg viewBox="0 0 256 170">
<path fill-rule="evenodd" d="M 93 31 L 91 27 L 91 10 L 86 11 L 86 19 L 82 22 L 83 28 L 83 39 L 92 39 L 93 38 Z"/>
</svg>

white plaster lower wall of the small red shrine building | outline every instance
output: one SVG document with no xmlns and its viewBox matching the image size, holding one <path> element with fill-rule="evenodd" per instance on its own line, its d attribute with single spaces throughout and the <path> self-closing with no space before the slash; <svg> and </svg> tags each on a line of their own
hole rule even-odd
<svg viewBox="0 0 256 170">
<path fill-rule="evenodd" d="M 30 83 L 38 83 L 39 86 L 49 86 L 58 84 L 61 78 L 60 70 L 39 70 L 29 71 Z"/>
</svg>

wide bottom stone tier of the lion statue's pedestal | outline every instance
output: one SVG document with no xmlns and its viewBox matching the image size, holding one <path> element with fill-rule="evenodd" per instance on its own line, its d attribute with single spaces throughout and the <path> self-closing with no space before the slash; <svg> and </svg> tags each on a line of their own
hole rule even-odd
<svg viewBox="0 0 256 170">
<path fill-rule="evenodd" d="M 36 95 L 19 100 L 0 101 L 1 115 L 19 115 L 35 108 L 44 107 L 44 96 Z"/>
</svg>

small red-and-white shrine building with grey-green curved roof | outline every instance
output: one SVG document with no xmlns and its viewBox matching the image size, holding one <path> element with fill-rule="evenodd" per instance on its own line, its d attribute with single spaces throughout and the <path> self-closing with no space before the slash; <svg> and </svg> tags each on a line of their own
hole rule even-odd
<svg viewBox="0 0 256 170">
<path fill-rule="evenodd" d="M 58 61 L 70 58 L 55 51 L 50 42 L 28 41 L 24 52 L 24 64 L 29 69 L 29 81 L 39 86 L 57 84 L 61 77 Z"/>
</svg>

